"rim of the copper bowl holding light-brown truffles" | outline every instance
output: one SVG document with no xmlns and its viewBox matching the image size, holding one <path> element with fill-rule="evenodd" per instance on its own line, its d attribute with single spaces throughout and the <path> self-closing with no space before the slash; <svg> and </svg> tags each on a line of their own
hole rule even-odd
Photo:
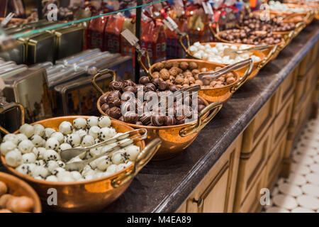
<svg viewBox="0 0 319 227">
<path fill-rule="evenodd" d="M 202 62 L 202 63 L 206 63 L 208 65 L 216 65 L 216 66 L 219 66 L 219 67 L 225 67 L 225 64 L 220 64 L 220 63 L 217 63 L 217 62 L 209 62 L 209 61 L 206 61 L 206 60 L 187 59 L 187 58 L 170 59 L 170 60 L 164 60 L 162 62 Z M 157 62 L 157 63 L 159 63 L 159 62 Z M 148 70 L 150 72 L 150 76 L 151 77 L 152 77 L 152 73 L 151 73 L 152 72 L 152 68 L 154 68 L 157 63 L 151 65 L 150 69 Z M 238 72 L 235 72 L 235 71 L 231 71 L 231 72 L 236 75 L 236 80 L 232 84 L 228 84 L 228 85 L 225 85 L 223 87 L 203 87 L 203 86 L 201 86 L 201 91 L 207 91 L 207 90 L 209 90 L 209 91 L 210 90 L 219 91 L 219 90 L 228 89 L 230 87 L 233 87 L 240 80 L 240 74 Z M 203 99 L 203 97 L 201 97 L 201 99 Z"/>
</svg>

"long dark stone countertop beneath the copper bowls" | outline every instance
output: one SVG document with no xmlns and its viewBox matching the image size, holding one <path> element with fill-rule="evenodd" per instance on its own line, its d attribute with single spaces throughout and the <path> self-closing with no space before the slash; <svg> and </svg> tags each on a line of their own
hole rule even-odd
<svg viewBox="0 0 319 227">
<path fill-rule="evenodd" d="M 319 39 L 319 23 L 307 26 L 244 84 L 180 155 L 148 163 L 105 212 L 174 212 L 233 143 L 279 84 Z M 4 171 L 0 167 L 0 171 Z"/>
</svg>

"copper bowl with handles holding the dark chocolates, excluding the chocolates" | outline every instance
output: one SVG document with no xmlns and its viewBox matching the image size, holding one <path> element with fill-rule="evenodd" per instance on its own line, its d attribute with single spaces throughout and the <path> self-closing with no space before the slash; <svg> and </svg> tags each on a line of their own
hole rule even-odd
<svg viewBox="0 0 319 227">
<path fill-rule="evenodd" d="M 92 79 L 94 87 L 96 87 L 96 89 L 98 89 L 102 94 L 108 94 L 108 92 L 103 93 L 96 84 L 96 77 L 99 77 L 99 74 L 96 74 Z M 101 109 L 101 97 L 96 103 L 97 109 L 99 110 L 100 114 L 107 116 L 107 114 L 105 114 Z M 153 140 L 154 138 L 160 138 L 162 140 L 162 145 L 152 160 L 167 160 L 169 158 L 175 157 L 181 153 L 182 150 L 187 148 L 196 139 L 201 129 L 205 127 L 206 124 L 214 118 L 214 116 L 216 116 L 218 111 L 220 111 L 223 106 L 220 101 L 216 101 L 212 104 L 208 104 L 208 102 L 205 100 L 203 101 L 206 105 L 206 108 L 204 108 L 201 113 L 198 114 L 198 119 L 194 122 L 175 126 L 160 127 L 138 126 L 133 123 L 125 123 L 125 125 L 132 128 L 147 128 L 146 142 Z M 115 118 L 111 119 L 112 121 L 123 123 Z"/>
</svg>

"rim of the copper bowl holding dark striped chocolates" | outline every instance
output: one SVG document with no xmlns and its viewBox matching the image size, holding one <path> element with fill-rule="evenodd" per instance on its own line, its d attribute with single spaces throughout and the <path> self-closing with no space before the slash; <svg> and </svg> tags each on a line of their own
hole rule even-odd
<svg viewBox="0 0 319 227">
<path fill-rule="evenodd" d="M 108 92 L 105 92 L 104 94 L 102 94 L 98 101 L 97 101 L 97 109 L 99 110 L 99 113 L 102 114 L 103 116 L 108 116 L 106 113 L 104 113 L 101 109 L 101 104 L 100 104 L 100 101 L 101 101 L 101 97 L 105 94 L 108 94 Z M 201 97 L 198 95 L 198 97 Z M 206 106 L 208 106 L 208 101 L 206 101 L 206 99 L 203 99 L 203 97 L 201 97 L 201 99 L 203 100 L 204 104 Z M 208 116 L 209 112 L 206 113 L 204 116 L 203 116 L 203 119 L 206 118 Z M 112 118 L 111 116 L 108 116 L 109 118 L 112 119 L 112 121 L 117 121 L 117 122 L 121 122 L 121 123 L 124 123 L 125 125 L 128 125 L 130 127 L 134 127 L 134 128 L 146 128 L 146 129 L 152 129 L 152 130 L 164 130 L 164 129 L 170 129 L 170 128 L 186 128 L 186 127 L 189 127 L 189 126 L 194 126 L 194 124 L 196 124 L 196 120 L 195 121 L 191 121 L 189 123 L 182 123 L 180 125 L 174 125 L 174 126 L 138 126 L 138 125 L 135 125 L 133 123 L 125 123 L 123 121 L 120 121 L 116 118 Z"/>
</svg>

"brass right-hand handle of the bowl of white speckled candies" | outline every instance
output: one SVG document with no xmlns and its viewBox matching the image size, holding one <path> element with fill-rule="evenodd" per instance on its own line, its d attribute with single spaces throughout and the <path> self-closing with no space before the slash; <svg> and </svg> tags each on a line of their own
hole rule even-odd
<svg viewBox="0 0 319 227">
<path fill-rule="evenodd" d="M 113 188 L 118 188 L 121 185 L 129 182 L 133 177 L 138 175 L 138 172 L 142 170 L 142 167 L 144 167 L 147 162 L 150 162 L 152 157 L 155 155 L 157 150 L 162 144 L 162 140 L 160 138 L 155 138 L 150 143 L 146 145 L 146 147 L 142 150 L 142 152 L 138 155 L 134 162 L 133 170 L 130 172 L 127 172 L 125 175 L 122 175 L 120 177 L 116 177 L 112 180 L 111 184 Z"/>
</svg>

